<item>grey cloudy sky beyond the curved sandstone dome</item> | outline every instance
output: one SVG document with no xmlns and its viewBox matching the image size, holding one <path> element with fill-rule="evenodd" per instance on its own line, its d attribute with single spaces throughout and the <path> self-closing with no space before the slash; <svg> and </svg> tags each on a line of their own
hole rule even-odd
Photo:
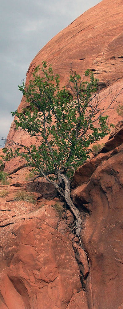
<svg viewBox="0 0 123 309">
<path fill-rule="evenodd" d="M 35 55 L 58 32 L 101 0 L 4 0 L 0 8 L 0 137 L 7 137 L 18 85 Z M 0 140 L 0 145 L 2 141 Z"/>
</svg>

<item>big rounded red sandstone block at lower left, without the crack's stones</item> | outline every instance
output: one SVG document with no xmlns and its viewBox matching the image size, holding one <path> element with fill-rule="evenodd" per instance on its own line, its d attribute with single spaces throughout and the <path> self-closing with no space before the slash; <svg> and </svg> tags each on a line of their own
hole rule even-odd
<svg viewBox="0 0 123 309">
<path fill-rule="evenodd" d="M 57 224 L 57 213 L 49 206 L 2 222 L 1 308 L 15 308 L 17 302 L 19 309 L 66 308 L 79 294 L 80 271 L 72 244 L 56 230 Z"/>
</svg>

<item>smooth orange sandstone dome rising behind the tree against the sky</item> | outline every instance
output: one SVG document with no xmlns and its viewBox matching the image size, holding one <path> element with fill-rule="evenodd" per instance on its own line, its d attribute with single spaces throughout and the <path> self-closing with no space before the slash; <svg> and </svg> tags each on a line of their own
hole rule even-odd
<svg viewBox="0 0 123 309">
<path fill-rule="evenodd" d="M 69 89 L 68 79 L 70 65 L 73 70 L 82 75 L 86 69 L 91 69 L 99 78 L 101 108 L 111 102 L 112 96 L 120 93 L 112 109 L 108 111 L 109 122 L 117 124 L 119 116 L 116 112 L 118 102 L 123 101 L 123 1 L 103 0 L 84 14 L 80 15 L 67 28 L 58 33 L 36 55 L 27 71 L 26 85 L 36 66 L 42 61 L 52 64 L 54 73 L 60 75 L 61 87 Z M 121 91 L 121 92 L 120 92 Z M 22 111 L 27 103 L 22 98 L 18 111 Z M 21 140 L 20 140 L 21 138 Z M 12 123 L 8 135 L 9 140 L 30 145 L 29 135 L 16 131 Z M 18 160 L 6 164 L 6 171 L 11 171 L 22 163 Z"/>
</svg>

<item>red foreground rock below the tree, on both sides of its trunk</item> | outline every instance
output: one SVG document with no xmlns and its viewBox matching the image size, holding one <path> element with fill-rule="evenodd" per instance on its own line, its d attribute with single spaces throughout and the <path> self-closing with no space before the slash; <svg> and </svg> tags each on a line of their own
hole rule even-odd
<svg viewBox="0 0 123 309">
<path fill-rule="evenodd" d="M 22 182 L 24 169 L 0 185 L 0 194 L 7 192 L 0 198 L 1 309 L 123 308 L 122 132 L 123 121 L 75 172 L 71 195 L 83 218 L 82 248 L 73 214 L 57 197 L 34 192 L 33 181 Z M 36 203 L 14 201 L 27 188 Z"/>
</svg>

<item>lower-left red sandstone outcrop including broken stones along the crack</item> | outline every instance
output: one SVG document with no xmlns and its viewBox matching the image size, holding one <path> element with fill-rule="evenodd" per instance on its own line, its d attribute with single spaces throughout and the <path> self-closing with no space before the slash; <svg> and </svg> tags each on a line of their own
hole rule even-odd
<svg viewBox="0 0 123 309">
<path fill-rule="evenodd" d="M 63 210 L 60 218 L 55 206 L 60 204 L 58 199 L 37 199 L 33 205 L 12 201 L 11 194 L 11 201 L 8 197 L 0 200 L 0 308 L 57 309 L 69 304 L 72 309 L 82 302 L 87 309 L 81 280 L 82 273 L 86 279 L 89 265 L 70 230 L 70 211 Z"/>
</svg>

